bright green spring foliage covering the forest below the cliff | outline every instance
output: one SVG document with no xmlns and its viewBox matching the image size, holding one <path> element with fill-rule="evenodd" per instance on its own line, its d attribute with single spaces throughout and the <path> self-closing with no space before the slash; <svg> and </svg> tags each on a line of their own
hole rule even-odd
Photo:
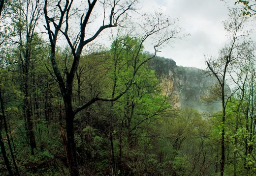
<svg viewBox="0 0 256 176">
<path fill-rule="evenodd" d="M 19 16 L 13 19 L 18 20 L 13 21 L 13 25 L 16 30 L 25 34 L 26 20 L 19 20 L 17 17 Z M 5 33 L 2 36 L 12 32 L 8 26 L 0 27 L 0 31 Z M 22 40 L 26 38 L 24 36 L 21 36 Z M 169 82 L 164 82 L 166 79 L 160 79 L 160 75 L 157 77 L 150 69 L 150 63 L 144 63 L 149 54 L 144 52 L 141 42 L 139 36 L 121 36 L 113 41 L 110 49 L 92 44 L 82 52 L 72 84 L 73 92 L 70 94 L 73 109 L 96 97 L 111 99 L 123 92 L 129 82 L 132 84 L 117 101 L 97 101 L 76 114 L 73 128 L 74 151 L 77 153 L 76 162 L 80 174 L 218 175 L 220 139 L 222 129 L 225 129 L 225 174 L 233 174 L 234 153 L 237 152 L 237 175 L 255 175 L 256 89 L 253 72 L 248 74 L 253 75 L 246 82 L 248 86 L 237 90 L 234 97 L 230 98 L 232 101 L 227 102 L 226 121 L 222 122 L 221 112 L 202 115 L 194 109 L 173 107 L 172 102 L 178 99 L 174 96 L 176 92 Z M 0 49 L 0 93 L 4 99 L 7 134 L 11 139 L 11 148 L 15 151 L 14 159 L 20 175 L 66 176 L 69 175 L 69 170 L 65 129 L 64 133 L 61 132 L 63 126 L 69 125 L 64 121 L 66 104 L 63 103 L 58 82 L 53 76 L 48 44 L 43 43 L 43 38 L 38 33 L 33 33 L 29 43 Z M 5 45 L 8 46 L 8 43 Z M 26 60 L 24 51 L 31 51 L 31 58 L 27 60 L 29 64 L 26 69 L 29 72 L 26 80 L 23 70 Z M 221 54 L 225 51 L 221 50 Z M 74 59 L 72 51 L 67 47 L 57 47 L 55 54 L 60 74 L 66 81 Z M 218 69 L 222 68 L 223 58 L 225 57 L 222 57 L 221 62 L 213 62 L 213 65 Z M 160 60 L 167 64 L 163 58 Z M 175 63 L 170 65 L 174 67 Z M 140 69 L 137 69 L 138 66 Z M 169 73 L 169 70 L 164 69 L 160 71 Z M 177 68 L 177 72 L 189 72 L 188 70 L 184 67 Z M 187 79 L 193 80 L 198 70 L 190 69 L 189 73 Z M 25 82 L 28 86 L 27 97 Z M 196 89 L 196 81 L 191 84 Z M 215 94 L 207 97 L 207 101 L 218 100 L 220 89 L 220 86 L 214 85 L 211 91 Z M 190 96 L 191 89 L 184 88 L 182 93 Z M 24 107 L 24 101 L 29 101 L 28 107 Z M 196 106 L 195 102 L 192 103 Z M 32 131 L 36 141 L 33 155 L 30 139 L 26 135 L 28 124 L 24 108 L 31 111 Z M 2 114 L 1 112 L 0 116 Z M 2 124 L 1 122 L 1 127 Z M 0 132 L 7 148 L 7 136 L 3 130 Z M 10 151 L 7 151 L 7 156 L 11 158 Z M 13 163 L 11 167 L 14 168 Z M 0 175 L 6 175 L 1 157 Z"/>
</svg>

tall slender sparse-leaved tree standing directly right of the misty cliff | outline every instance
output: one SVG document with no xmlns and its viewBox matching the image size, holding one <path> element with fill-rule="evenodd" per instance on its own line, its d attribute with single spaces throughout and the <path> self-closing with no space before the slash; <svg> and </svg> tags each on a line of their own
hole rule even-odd
<svg viewBox="0 0 256 176">
<path fill-rule="evenodd" d="M 221 176 L 224 176 L 225 166 L 225 122 L 226 122 L 226 105 L 230 101 L 230 97 L 234 92 L 229 92 L 227 79 L 231 76 L 232 64 L 236 60 L 241 59 L 242 52 L 247 45 L 239 40 L 245 37 L 243 33 L 243 25 L 246 22 L 246 17 L 237 13 L 236 9 L 230 9 L 229 19 L 224 22 L 224 28 L 229 37 L 229 43 L 220 50 L 218 59 L 206 59 L 208 74 L 213 75 L 217 79 L 217 85 L 220 89 L 219 98 L 222 102 L 222 130 L 221 130 Z"/>
</svg>

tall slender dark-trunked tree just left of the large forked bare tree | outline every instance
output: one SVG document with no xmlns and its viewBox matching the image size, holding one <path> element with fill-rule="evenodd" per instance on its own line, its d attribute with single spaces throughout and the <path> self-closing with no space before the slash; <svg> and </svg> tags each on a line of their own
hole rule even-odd
<svg viewBox="0 0 256 176">
<path fill-rule="evenodd" d="M 34 155 L 36 148 L 35 135 L 32 123 L 31 110 L 31 81 L 30 75 L 32 70 L 32 60 L 35 59 L 36 45 L 40 44 L 38 33 L 36 31 L 37 24 L 42 15 L 42 1 L 40 0 L 20 0 L 18 5 L 13 6 L 14 14 L 12 21 L 17 24 L 15 32 L 17 37 L 13 42 L 18 45 L 19 64 L 22 72 L 22 92 L 24 94 L 24 119 L 27 137 L 29 139 L 31 153 Z"/>
</svg>

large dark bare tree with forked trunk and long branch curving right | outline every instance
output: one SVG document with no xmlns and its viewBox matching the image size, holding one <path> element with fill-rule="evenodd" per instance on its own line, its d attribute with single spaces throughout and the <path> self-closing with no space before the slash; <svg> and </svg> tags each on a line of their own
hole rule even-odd
<svg viewBox="0 0 256 176">
<path fill-rule="evenodd" d="M 52 3 L 52 2 L 51 2 Z M 127 14 L 134 12 L 137 0 L 87 0 L 81 2 L 79 7 L 75 7 L 73 0 L 59 0 L 56 2 L 56 6 L 50 4 L 48 0 L 45 0 L 44 14 L 45 14 L 45 28 L 48 32 L 50 44 L 51 44 L 51 62 L 56 76 L 56 80 L 59 83 L 62 97 L 65 107 L 65 122 L 66 122 L 66 135 L 67 135 L 67 158 L 68 166 L 71 176 L 79 175 L 79 168 L 76 161 L 76 148 L 74 140 L 74 117 L 81 110 L 87 108 L 96 101 L 116 101 L 122 95 L 124 95 L 129 87 L 134 83 L 134 76 L 138 69 L 147 61 L 154 58 L 157 53 L 157 49 L 168 42 L 170 38 L 178 37 L 180 28 L 176 26 L 175 21 L 164 19 L 162 14 L 155 14 L 151 16 L 144 15 L 141 19 L 145 20 L 143 23 L 137 24 L 136 27 L 140 27 L 142 32 L 140 48 L 137 54 L 134 55 L 134 64 L 132 65 L 133 74 L 130 76 L 129 81 L 126 83 L 126 87 L 118 95 L 111 98 L 103 98 L 99 95 L 91 98 L 84 104 L 77 107 L 73 107 L 72 103 L 72 91 L 73 80 L 77 71 L 81 54 L 84 47 L 90 42 L 99 37 L 99 34 L 107 28 L 116 27 L 122 24 L 124 18 L 129 18 Z M 75 22 L 75 16 L 82 12 L 78 22 Z M 95 18 L 95 13 L 100 13 Z M 139 15 L 137 13 L 137 15 Z M 96 22 L 101 18 L 101 24 Z M 72 25 L 79 24 L 79 30 L 74 31 L 75 28 Z M 95 27 L 97 26 L 97 27 Z M 129 26 L 135 27 L 135 26 Z M 91 32 L 91 33 L 90 33 Z M 72 40 L 72 36 L 75 36 Z M 66 69 L 64 76 L 60 70 L 60 65 L 56 60 L 56 47 L 58 45 L 59 38 L 64 37 L 67 45 L 72 53 L 72 62 L 70 68 Z M 139 52 L 142 49 L 142 44 L 154 37 L 155 42 L 155 54 L 152 57 L 146 58 L 141 61 L 138 58 Z"/>
</svg>

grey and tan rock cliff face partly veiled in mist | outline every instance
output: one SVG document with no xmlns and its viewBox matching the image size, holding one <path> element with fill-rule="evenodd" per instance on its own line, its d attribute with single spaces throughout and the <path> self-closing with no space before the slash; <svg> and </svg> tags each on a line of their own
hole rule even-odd
<svg viewBox="0 0 256 176">
<path fill-rule="evenodd" d="M 192 67 L 177 66 L 172 59 L 156 57 L 149 63 L 161 81 L 168 82 L 174 94 L 179 98 L 176 104 L 181 107 L 197 109 L 200 112 L 215 112 L 221 110 L 221 104 L 207 104 L 201 101 L 207 87 L 215 84 L 212 77 L 205 77 L 202 70 Z"/>
</svg>

